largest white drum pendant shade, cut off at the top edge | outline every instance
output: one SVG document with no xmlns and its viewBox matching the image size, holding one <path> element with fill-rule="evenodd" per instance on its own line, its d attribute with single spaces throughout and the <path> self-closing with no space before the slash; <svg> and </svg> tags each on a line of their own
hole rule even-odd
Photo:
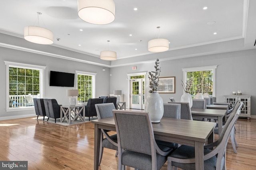
<svg viewBox="0 0 256 170">
<path fill-rule="evenodd" d="M 115 20 L 113 0 L 78 0 L 78 16 L 93 24 L 108 24 Z"/>
</svg>

